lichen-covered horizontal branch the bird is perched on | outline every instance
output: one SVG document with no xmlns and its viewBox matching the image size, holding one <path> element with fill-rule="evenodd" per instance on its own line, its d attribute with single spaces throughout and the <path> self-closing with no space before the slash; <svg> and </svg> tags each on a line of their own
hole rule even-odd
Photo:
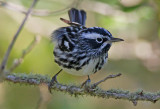
<svg viewBox="0 0 160 109">
<path fill-rule="evenodd" d="M 6 75 L 5 81 L 10 81 L 13 83 L 25 84 L 25 85 L 45 84 L 48 86 L 50 82 L 50 77 L 40 74 L 14 73 Z M 109 98 L 124 99 L 132 101 L 134 105 L 137 104 L 137 101 L 150 101 L 156 103 L 156 101 L 160 99 L 160 92 L 150 93 L 150 92 L 143 92 L 143 90 L 136 92 L 129 92 L 120 89 L 103 90 L 99 87 L 93 87 L 93 85 L 88 85 L 82 88 L 81 86 L 76 86 L 76 85 L 64 85 L 60 83 L 55 83 L 52 87 L 52 90 L 61 91 L 64 93 L 67 92 L 68 94 L 75 96 L 89 95 L 106 99 Z"/>
</svg>

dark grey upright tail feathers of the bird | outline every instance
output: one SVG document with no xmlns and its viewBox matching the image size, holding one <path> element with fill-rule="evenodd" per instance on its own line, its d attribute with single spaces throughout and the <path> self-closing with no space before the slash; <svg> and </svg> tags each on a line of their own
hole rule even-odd
<svg viewBox="0 0 160 109">
<path fill-rule="evenodd" d="M 68 11 L 68 15 L 71 22 L 76 22 L 85 26 L 86 12 L 84 10 L 77 10 L 72 8 Z"/>
</svg>

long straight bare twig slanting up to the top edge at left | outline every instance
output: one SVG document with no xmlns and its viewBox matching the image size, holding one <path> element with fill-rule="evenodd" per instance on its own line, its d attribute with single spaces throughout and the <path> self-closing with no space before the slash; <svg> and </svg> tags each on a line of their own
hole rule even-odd
<svg viewBox="0 0 160 109">
<path fill-rule="evenodd" d="M 3 61 L 2 61 L 2 63 L 1 63 L 0 73 L 2 73 L 2 71 L 5 69 L 5 66 L 6 66 L 8 57 L 9 57 L 10 52 L 11 52 L 13 46 L 14 46 L 14 43 L 16 42 L 16 39 L 17 39 L 19 33 L 21 32 L 21 30 L 22 30 L 25 22 L 27 21 L 27 19 L 28 19 L 29 15 L 31 14 L 32 9 L 33 9 L 33 7 L 36 5 L 37 1 L 38 1 L 38 0 L 34 0 L 34 1 L 32 2 L 32 5 L 31 5 L 30 8 L 28 9 L 25 18 L 23 19 L 23 21 L 22 21 L 21 25 L 19 26 L 17 32 L 16 32 L 15 35 L 13 36 L 12 42 L 10 43 L 10 45 L 9 45 L 9 47 L 8 47 L 5 55 L 4 55 Z"/>
</svg>

